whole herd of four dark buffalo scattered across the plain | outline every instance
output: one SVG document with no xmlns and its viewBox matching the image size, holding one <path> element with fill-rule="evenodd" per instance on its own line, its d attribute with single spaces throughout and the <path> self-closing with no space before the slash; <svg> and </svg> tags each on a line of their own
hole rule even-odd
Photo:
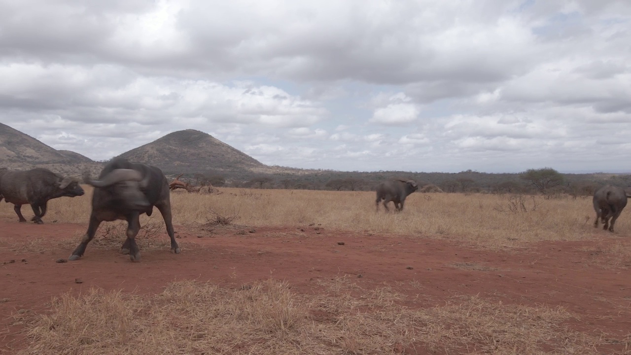
<svg viewBox="0 0 631 355">
<path fill-rule="evenodd" d="M 174 236 L 168 181 L 158 167 L 115 158 L 103 167 L 97 179 L 92 179 L 88 174 L 85 174 L 83 179 L 84 183 L 95 188 L 92 194 L 90 222 L 81 243 L 69 256 L 69 260 L 77 260 L 83 256 L 86 246 L 94 238 L 101 222 L 126 220 L 127 239 L 121 246 L 121 253 L 129 254 L 131 261 L 138 262 L 140 251 L 135 238 L 140 230 L 139 217 L 142 214 L 150 216 L 153 207 L 157 207 L 162 214 L 167 234 L 171 239 L 171 252 L 180 253 Z M 379 203 L 383 201 L 386 211 L 389 211 L 387 203 L 393 202 L 396 211 L 399 212 L 403 210 L 406 197 L 418 190 L 418 184 L 413 180 L 395 179 L 377 184 L 375 190 L 377 211 Z M 20 222 L 27 222 L 21 213 L 22 205 L 29 204 L 33 209 L 33 222 L 44 224 L 42 217 L 46 214 L 49 200 L 83 194 L 84 191 L 77 180 L 64 178 L 48 169 L 0 169 L 0 201 L 4 198 L 6 202 L 13 203 Z M 631 188 L 611 185 L 599 188 L 593 197 L 596 211 L 594 227 L 598 227 L 598 221 L 601 220 L 604 224 L 603 229 L 613 232 L 613 226 L 627 205 L 628 197 L 631 197 Z"/>
</svg>

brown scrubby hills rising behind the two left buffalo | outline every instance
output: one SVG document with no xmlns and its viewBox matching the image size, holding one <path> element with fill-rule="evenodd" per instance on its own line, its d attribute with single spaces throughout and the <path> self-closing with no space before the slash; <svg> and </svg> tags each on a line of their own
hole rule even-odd
<svg viewBox="0 0 631 355">
<path fill-rule="evenodd" d="M 118 155 L 134 162 L 155 165 L 167 175 L 179 173 L 228 174 L 304 174 L 304 169 L 270 167 L 196 129 L 168 133 L 162 138 Z M 0 167 L 23 170 L 46 167 L 54 172 L 80 177 L 88 170 L 97 175 L 103 168 L 85 155 L 56 150 L 25 133 L 0 123 Z"/>
</svg>

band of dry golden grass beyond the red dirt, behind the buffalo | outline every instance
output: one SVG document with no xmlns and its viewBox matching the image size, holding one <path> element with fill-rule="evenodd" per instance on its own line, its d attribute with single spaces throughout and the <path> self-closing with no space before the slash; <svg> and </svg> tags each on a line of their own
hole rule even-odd
<svg viewBox="0 0 631 355">
<path fill-rule="evenodd" d="M 372 192 L 220 190 L 221 195 L 172 194 L 174 223 L 204 224 L 216 214 L 236 214 L 233 222 L 252 227 L 315 223 L 326 229 L 449 238 L 488 248 L 579 240 L 595 232 L 590 199 L 523 196 L 519 200 L 519 196 L 510 195 L 413 193 L 403 212 L 386 214 L 383 208 L 375 213 Z M 85 196 L 52 200 L 45 222 L 86 224 L 90 197 L 91 190 L 86 187 Z M 631 218 L 626 212 L 616 223 L 618 232 L 631 231 Z M 0 214 L 15 215 L 8 203 L 0 204 Z M 155 214 L 159 218 L 157 210 Z"/>
</svg>

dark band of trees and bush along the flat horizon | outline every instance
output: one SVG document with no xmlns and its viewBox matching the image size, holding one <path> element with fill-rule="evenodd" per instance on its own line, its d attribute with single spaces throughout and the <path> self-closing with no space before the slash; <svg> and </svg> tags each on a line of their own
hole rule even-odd
<svg viewBox="0 0 631 355">
<path fill-rule="evenodd" d="M 376 184 L 389 179 L 412 179 L 419 187 L 437 186 L 445 193 L 521 193 L 591 196 L 599 186 L 631 185 L 631 175 L 562 174 L 551 167 L 528 169 L 521 173 L 477 171 L 447 172 L 341 172 L 319 171 L 310 174 L 257 174 L 240 178 L 215 172 L 184 174 L 180 179 L 215 187 L 296 189 L 332 191 L 372 191 Z M 434 190 L 435 191 L 435 190 Z"/>
</svg>

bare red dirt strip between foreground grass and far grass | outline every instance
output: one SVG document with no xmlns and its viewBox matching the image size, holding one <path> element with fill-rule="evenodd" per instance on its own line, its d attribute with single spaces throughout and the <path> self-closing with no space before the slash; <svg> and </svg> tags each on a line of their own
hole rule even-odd
<svg viewBox="0 0 631 355">
<path fill-rule="evenodd" d="M 176 226 L 183 246 L 180 255 L 171 254 L 168 248 L 143 251 L 139 243 L 142 261 L 131 263 L 129 256 L 117 250 L 88 245 L 80 260 L 56 263 L 59 258 L 68 258 L 74 245 L 62 250 L 52 243 L 52 250 L 44 253 L 19 253 L 12 251 L 11 245 L 36 238 L 76 239 L 86 226 L 38 226 L 18 224 L 14 219 L 0 216 L 2 354 L 25 346 L 23 325 L 13 324 L 11 318 L 18 310 L 45 311 L 53 296 L 92 286 L 152 294 L 161 292 L 169 282 L 183 279 L 235 287 L 273 277 L 287 280 L 298 292 L 314 292 L 314 279 L 348 275 L 363 286 L 388 284 L 410 296 L 420 295 L 426 306 L 453 296 L 478 294 L 505 303 L 563 306 L 579 316 L 571 327 L 584 332 L 604 331 L 619 340 L 631 333 L 629 254 L 616 258 L 601 250 L 614 242 L 631 248 L 630 236 L 620 232 L 611 235 L 594 230 L 591 241 L 540 243 L 507 253 L 475 250 L 444 240 L 336 232 L 326 226 L 317 231 L 314 226 L 256 228 L 245 234 L 231 228 L 215 229 L 215 234 L 210 234 L 192 226 Z M 166 234 L 160 238 L 168 239 Z M 10 260 L 15 262 L 8 263 Z M 490 269 L 454 266 L 463 262 Z M 362 278 L 357 278 L 358 274 Z M 83 283 L 76 284 L 76 278 Z M 422 287 L 410 286 L 412 280 Z M 625 352 L 623 347 L 616 348 L 615 340 L 612 342 L 606 352 Z"/>
</svg>

